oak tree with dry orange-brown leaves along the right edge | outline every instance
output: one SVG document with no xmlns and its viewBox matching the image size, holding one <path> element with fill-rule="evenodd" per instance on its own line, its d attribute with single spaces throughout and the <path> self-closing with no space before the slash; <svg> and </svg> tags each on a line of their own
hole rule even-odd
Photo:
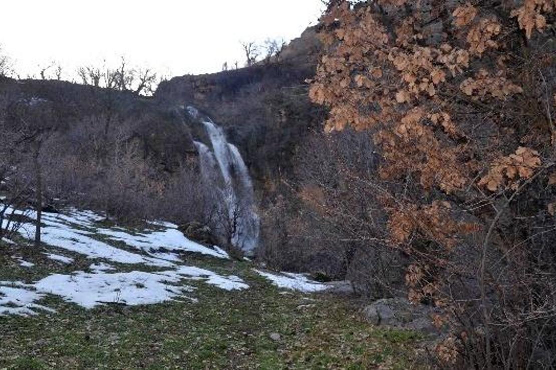
<svg viewBox="0 0 556 370">
<path fill-rule="evenodd" d="M 554 366 L 553 0 L 331 3 L 310 98 L 367 130 L 411 301 L 461 367 Z M 369 261 L 372 263 L 372 261 Z"/>
</svg>

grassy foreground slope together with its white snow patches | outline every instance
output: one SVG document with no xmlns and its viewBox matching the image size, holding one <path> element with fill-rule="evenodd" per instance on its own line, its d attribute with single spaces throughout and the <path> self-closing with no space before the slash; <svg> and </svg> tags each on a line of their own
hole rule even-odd
<svg viewBox="0 0 556 370">
<path fill-rule="evenodd" d="M 52 245 L 30 251 L 25 232 L 0 242 L 1 368 L 405 368 L 418 356 L 420 334 L 375 328 L 328 293 L 279 288 L 170 225 L 45 216 Z"/>
</svg>

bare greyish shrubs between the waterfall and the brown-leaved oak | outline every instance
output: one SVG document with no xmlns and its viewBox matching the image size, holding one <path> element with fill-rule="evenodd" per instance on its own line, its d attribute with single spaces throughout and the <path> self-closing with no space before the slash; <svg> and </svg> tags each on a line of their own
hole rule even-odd
<svg viewBox="0 0 556 370">
<path fill-rule="evenodd" d="M 378 165 L 366 134 L 313 134 L 300 148 L 296 179 L 264 214 L 263 257 L 280 268 L 310 268 L 353 281 L 375 297 L 400 293 L 407 261 L 385 246 L 385 216 L 376 203 Z M 369 263 L 369 259 L 373 263 Z"/>
</svg>

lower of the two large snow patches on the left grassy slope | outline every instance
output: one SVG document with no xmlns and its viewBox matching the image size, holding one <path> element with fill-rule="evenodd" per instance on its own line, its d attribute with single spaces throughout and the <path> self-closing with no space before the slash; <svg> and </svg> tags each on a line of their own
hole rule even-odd
<svg viewBox="0 0 556 370">
<path fill-rule="evenodd" d="M 195 288 L 177 285 L 182 280 L 200 280 L 223 290 L 243 290 L 249 288 L 241 278 L 222 276 L 194 266 L 180 266 L 176 270 L 162 272 L 116 272 L 107 273 L 111 266 L 92 265 L 93 273 L 78 271 L 72 275 L 55 274 L 34 284 L 0 282 L 0 316 L 32 315 L 33 309 L 49 310 L 37 305 L 45 294 L 62 297 L 66 302 L 76 303 L 84 308 L 93 308 L 110 303 L 128 306 L 152 305 L 177 298 L 195 298 L 184 294 Z M 3 285 L 17 286 L 17 288 Z M 53 312 L 52 310 L 49 310 Z"/>
</svg>

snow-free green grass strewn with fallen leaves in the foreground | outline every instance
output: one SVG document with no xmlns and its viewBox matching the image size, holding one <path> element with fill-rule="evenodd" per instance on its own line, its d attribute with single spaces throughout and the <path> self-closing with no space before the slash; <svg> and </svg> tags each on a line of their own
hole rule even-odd
<svg viewBox="0 0 556 370">
<path fill-rule="evenodd" d="M 14 252 L 15 250 L 15 252 Z M 41 256 L 25 269 L 0 250 L 0 280 L 33 281 L 63 267 Z M 11 247 L 11 254 L 23 250 Z M 64 254 L 68 255 L 67 252 Z M 190 256 L 188 263 L 234 273 L 250 290 L 226 292 L 202 282 L 190 301 L 152 306 L 103 306 L 83 310 L 48 297 L 55 315 L 0 317 L 3 368 L 408 368 L 419 337 L 375 328 L 349 300 L 283 292 L 247 262 Z M 44 267 L 45 265 L 48 267 Z M 62 270 L 61 270 L 62 269 Z M 126 269 L 127 270 L 127 269 Z M 271 333 L 279 333 L 273 341 Z"/>
</svg>

